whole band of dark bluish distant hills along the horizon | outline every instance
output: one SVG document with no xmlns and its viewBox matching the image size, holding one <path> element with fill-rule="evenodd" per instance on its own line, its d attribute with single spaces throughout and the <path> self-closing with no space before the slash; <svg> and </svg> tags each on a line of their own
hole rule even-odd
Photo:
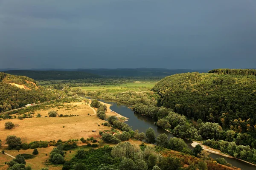
<svg viewBox="0 0 256 170">
<path fill-rule="evenodd" d="M 208 70 L 166 69 L 166 68 L 95 68 L 95 69 L 0 69 L 5 73 L 22 75 L 33 79 L 84 79 L 108 77 L 166 77 L 172 74 L 199 72 Z"/>
</svg>

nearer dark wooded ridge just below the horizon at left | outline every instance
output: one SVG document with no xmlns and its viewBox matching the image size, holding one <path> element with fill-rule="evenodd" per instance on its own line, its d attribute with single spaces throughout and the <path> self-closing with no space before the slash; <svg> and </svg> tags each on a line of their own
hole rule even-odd
<svg viewBox="0 0 256 170">
<path fill-rule="evenodd" d="M 10 70 L 4 71 L 17 76 L 31 77 L 36 80 L 66 80 L 66 79 L 87 79 L 100 78 L 101 76 L 79 71 L 30 71 L 30 70 Z"/>
</svg>

